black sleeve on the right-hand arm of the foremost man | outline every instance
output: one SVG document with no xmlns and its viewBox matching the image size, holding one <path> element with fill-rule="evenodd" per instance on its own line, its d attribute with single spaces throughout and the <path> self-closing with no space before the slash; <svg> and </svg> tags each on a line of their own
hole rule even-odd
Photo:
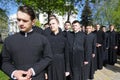
<svg viewBox="0 0 120 80">
<path fill-rule="evenodd" d="M 52 60 L 52 56 L 53 56 L 49 41 L 46 38 L 43 41 L 44 41 L 43 58 L 39 62 L 34 64 L 34 66 L 32 67 L 36 75 L 48 67 L 48 65 L 50 64 Z"/>
</svg>

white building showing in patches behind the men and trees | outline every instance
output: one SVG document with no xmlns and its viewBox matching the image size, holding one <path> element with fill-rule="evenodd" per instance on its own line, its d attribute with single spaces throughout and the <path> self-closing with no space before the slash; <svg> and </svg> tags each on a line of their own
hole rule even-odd
<svg viewBox="0 0 120 80">
<path fill-rule="evenodd" d="M 60 28 L 64 30 L 64 23 L 67 21 L 67 14 L 60 16 L 58 14 L 55 14 L 55 16 L 58 18 L 60 22 Z M 39 22 L 41 24 L 40 27 L 43 28 L 43 25 L 48 22 L 48 15 L 46 13 L 40 13 L 38 15 Z M 74 21 L 77 19 L 77 15 L 73 14 L 70 16 L 70 22 Z M 9 17 L 9 22 L 8 22 L 8 29 L 9 29 L 9 35 L 15 34 L 19 32 L 19 28 L 17 26 L 17 16 L 16 14 L 13 14 Z"/>
</svg>

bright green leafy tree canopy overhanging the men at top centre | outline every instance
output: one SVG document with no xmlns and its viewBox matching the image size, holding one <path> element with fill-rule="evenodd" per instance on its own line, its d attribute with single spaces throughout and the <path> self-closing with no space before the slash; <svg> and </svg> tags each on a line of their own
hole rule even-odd
<svg viewBox="0 0 120 80">
<path fill-rule="evenodd" d="M 66 12 L 68 12 L 68 14 L 71 15 L 71 12 L 76 11 L 74 8 L 75 1 L 76 0 L 16 0 L 18 4 L 32 6 L 38 13 L 47 13 L 48 18 L 53 13 L 64 15 Z M 70 2 L 70 4 L 66 5 L 66 2 Z"/>
</svg>

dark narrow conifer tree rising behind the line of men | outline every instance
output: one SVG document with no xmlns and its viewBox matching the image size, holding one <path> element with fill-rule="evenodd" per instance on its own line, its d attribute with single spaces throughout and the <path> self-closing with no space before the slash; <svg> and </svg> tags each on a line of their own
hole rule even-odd
<svg viewBox="0 0 120 80">
<path fill-rule="evenodd" d="M 83 26 L 87 26 L 87 25 L 92 25 L 93 24 L 93 20 L 92 20 L 92 11 L 89 5 L 89 1 L 86 0 L 85 1 L 85 6 L 83 8 L 82 11 L 82 15 L 81 15 L 81 24 Z"/>
</svg>

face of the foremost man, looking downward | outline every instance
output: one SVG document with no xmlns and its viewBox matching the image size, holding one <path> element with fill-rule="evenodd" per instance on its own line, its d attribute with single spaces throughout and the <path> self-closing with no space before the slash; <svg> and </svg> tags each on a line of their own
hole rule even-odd
<svg viewBox="0 0 120 80">
<path fill-rule="evenodd" d="M 30 15 L 27 13 L 18 11 L 17 13 L 17 23 L 20 31 L 29 32 L 32 29 L 32 25 L 34 24 L 34 20 L 31 20 Z"/>
</svg>

